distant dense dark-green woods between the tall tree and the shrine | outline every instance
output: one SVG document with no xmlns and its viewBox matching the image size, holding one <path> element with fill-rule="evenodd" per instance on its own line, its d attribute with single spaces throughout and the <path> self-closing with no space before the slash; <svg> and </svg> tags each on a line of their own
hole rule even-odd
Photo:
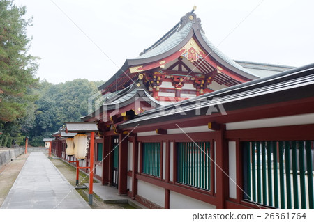
<svg viewBox="0 0 314 222">
<path fill-rule="evenodd" d="M 61 84 L 40 81 L 37 90 L 35 126 L 31 130 L 29 143 L 43 145 L 43 138 L 51 137 L 64 122 L 80 121 L 88 114 L 89 97 L 98 92 L 103 81 L 75 79 Z"/>
</svg>

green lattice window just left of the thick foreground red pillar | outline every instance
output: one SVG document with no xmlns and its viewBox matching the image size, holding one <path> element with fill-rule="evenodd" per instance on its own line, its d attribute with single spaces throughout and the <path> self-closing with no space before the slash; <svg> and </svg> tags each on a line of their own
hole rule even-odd
<svg viewBox="0 0 314 222">
<path fill-rule="evenodd" d="M 211 189 L 210 142 L 177 143 L 177 182 Z"/>
</svg>

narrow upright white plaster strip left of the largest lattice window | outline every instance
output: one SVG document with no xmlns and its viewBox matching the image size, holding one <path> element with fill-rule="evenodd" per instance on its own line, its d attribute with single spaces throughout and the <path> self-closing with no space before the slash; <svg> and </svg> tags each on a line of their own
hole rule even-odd
<svg viewBox="0 0 314 222">
<path fill-rule="evenodd" d="M 229 142 L 229 196 L 237 198 L 236 142 Z"/>
</svg>

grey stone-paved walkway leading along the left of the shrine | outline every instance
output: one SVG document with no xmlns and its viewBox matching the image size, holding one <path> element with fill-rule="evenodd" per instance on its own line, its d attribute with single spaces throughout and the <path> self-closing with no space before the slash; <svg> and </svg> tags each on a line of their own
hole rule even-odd
<svg viewBox="0 0 314 222">
<path fill-rule="evenodd" d="M 0 209 L 91 209 L 42 152 L 32 152 Z"/>
</svg>

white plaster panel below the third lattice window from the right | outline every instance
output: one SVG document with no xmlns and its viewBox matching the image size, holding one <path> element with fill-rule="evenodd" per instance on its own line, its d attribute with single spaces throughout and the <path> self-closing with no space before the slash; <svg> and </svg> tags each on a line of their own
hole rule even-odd
<svg viewBox="0 0 314 222">
<path fill-rule="evenodd" d="M 138 180 L 137 193 L 143 198 L 160 205 L 160 207 L 165 207 L 165 189 Z"/>
</svg>

